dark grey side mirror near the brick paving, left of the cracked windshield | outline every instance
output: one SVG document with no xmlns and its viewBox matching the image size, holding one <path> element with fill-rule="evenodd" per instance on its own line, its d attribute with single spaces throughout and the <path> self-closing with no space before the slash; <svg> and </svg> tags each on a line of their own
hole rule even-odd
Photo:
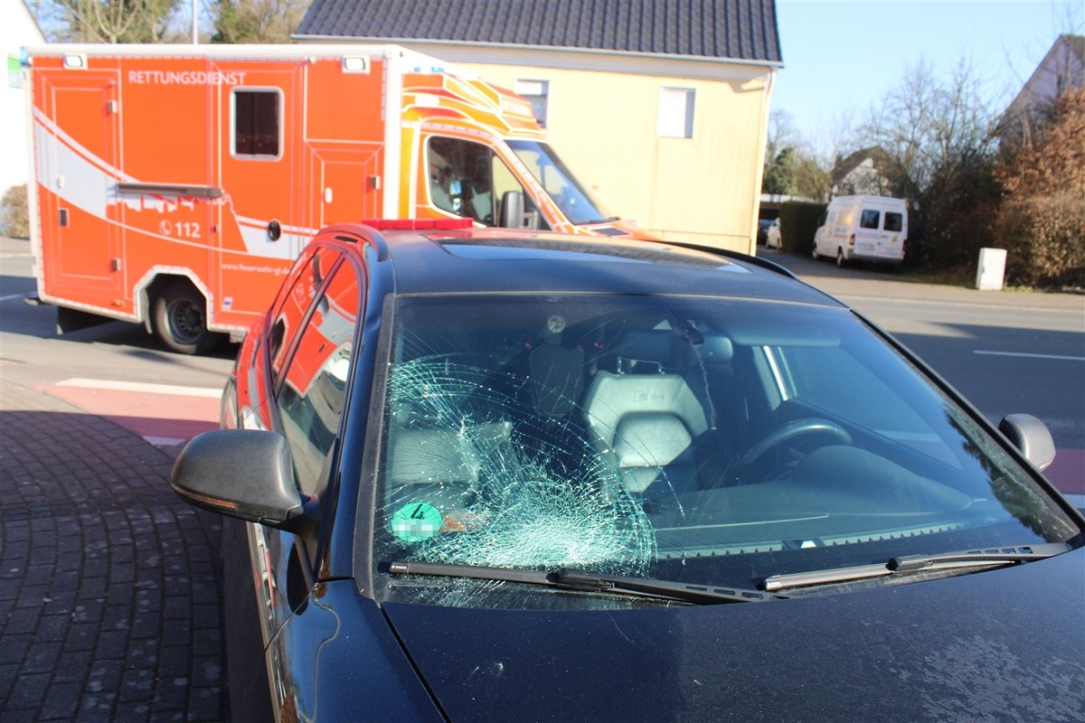
<svg viewBox="0 0 1085 723">
<path fill-rule="evenodd" d="M 272 431 L 215 429 L 197 435 L 174 462 L 170 485 L 195 507 L 294 531 L 315 504 L 294 485 L 286 439 Z"/>
</svg>

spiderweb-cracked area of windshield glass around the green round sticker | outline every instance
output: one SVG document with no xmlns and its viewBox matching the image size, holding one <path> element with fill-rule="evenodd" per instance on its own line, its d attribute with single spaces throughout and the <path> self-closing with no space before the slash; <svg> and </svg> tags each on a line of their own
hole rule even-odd
<svg viewBox="0 0 1085 723">
<path fill-rule="evenodd" d="M 617 470 L 590 453 L 577 415 L 540 418 L 524 409 L 539 396 L 528 385 L 573 409 L 561 385 L 465 357 L 421 357 L 392 370 L 385 504 L 396 537 L 412 556 L 437 563 L 643 573 L 655 535 Z M 397 529 L 397 514 L 414 526 Z"/>
</svg>

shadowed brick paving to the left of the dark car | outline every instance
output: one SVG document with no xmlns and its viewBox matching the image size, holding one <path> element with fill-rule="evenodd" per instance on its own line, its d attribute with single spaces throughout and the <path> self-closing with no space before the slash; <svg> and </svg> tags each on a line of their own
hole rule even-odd
<svg viewBox="0 0 1085 723">
<path fill-rule="evenodd" d="M 0 720 L 226 718 L 218 518 L 171 463 L 0 374 Z"/>
</svg>

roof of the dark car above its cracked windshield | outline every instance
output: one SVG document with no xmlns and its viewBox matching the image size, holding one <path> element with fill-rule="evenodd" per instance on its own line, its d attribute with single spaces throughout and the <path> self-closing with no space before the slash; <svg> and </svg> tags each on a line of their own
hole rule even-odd
<svg viewBox="0 0 1085 723">
<path fill-rule="evenodd" d="M 392 262 L 397 295 L 685 294 L 843 306 L 782 267 L 719 249 L 510 229 L 348 224 L 324 233 L 343 231 L 368 240 Z"/>
</svg>

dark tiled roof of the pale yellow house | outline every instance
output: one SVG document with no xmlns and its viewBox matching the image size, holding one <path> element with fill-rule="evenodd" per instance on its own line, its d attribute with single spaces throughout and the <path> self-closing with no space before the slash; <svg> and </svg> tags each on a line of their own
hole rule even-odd
<svg viewBox="0 0 1085 723">
<path fill-rule="evenodd" d="M 294 37 L 782 60 L 775 0 L 314 0 Z"/>
</svg>

